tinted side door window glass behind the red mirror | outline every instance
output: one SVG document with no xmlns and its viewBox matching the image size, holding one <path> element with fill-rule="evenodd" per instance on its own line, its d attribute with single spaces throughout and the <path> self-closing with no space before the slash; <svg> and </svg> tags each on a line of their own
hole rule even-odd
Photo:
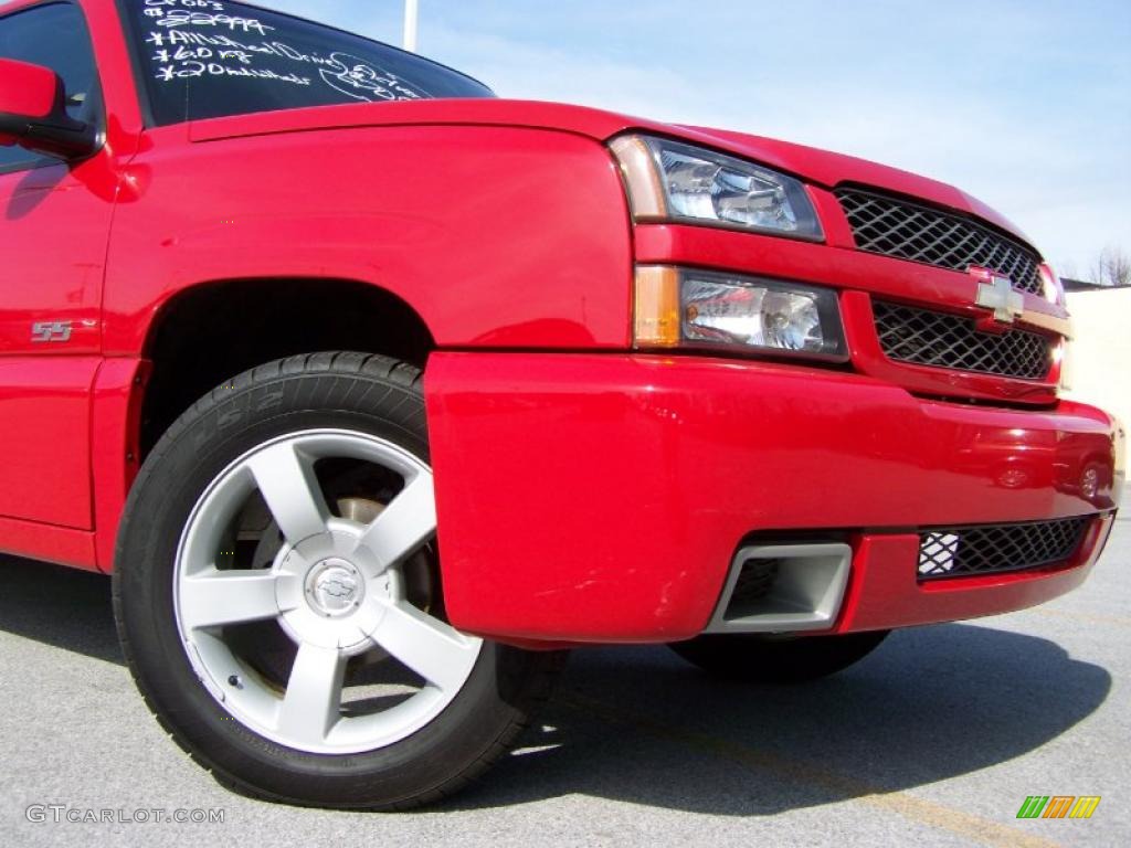
<svg viewBox="0 0 1131 848">
<path fill-rule="evenodd" d="M 0 18 L 0 57 L 51 68 L 63 79 L 71 118 L 89 121 L 96 116 L 98 77 L 86 20 L 77 6 L 50 3 Z M 23 147 L 0 147 L 0 171 L 57 161 Z"/>
</svg>

